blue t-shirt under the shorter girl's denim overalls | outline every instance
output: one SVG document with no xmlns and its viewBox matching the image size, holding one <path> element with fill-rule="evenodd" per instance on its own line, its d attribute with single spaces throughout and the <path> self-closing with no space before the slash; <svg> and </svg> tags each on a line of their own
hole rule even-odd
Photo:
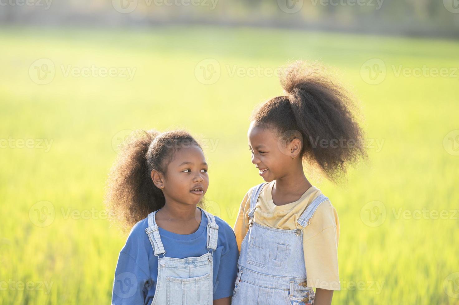
<svg viewBox="0 0 459 305">
<path fill-rule="evenodd" d="M 221 299 L 233 294 L 239 250 L 229 224 L 217 216 L 215 222 L 218 224 L 218 243 L 213 252 L 213 299 Z M 112 304 L 148 305 L 153 301 L 158 277 L 158 257 L 154 255 L 145 233 L 147 227 L 148 218 L 137 222 L 119 253 Z M 195 233 L 176 234 L 159 227 L 159 235 L 167 251 L 166 257 L 199 257 L 209 251 L 207 217 L 204 212 Z"/>
</svg>

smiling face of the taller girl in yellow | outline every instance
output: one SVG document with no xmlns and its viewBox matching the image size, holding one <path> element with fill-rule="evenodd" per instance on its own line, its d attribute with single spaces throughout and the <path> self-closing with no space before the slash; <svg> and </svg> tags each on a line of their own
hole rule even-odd
<svg viewBox="0 0 459 305">
<path fill-rule="evenodd" d="M 297 156 L 301 146 L 285 144 L 273 130 L 255 126 L 254 122 L 250 124 L 247 137 L 252 151 L 252 163 L 264 181 L 271 182 L 284 177 L 296 165 L 292 156 Z"/>
</svg>

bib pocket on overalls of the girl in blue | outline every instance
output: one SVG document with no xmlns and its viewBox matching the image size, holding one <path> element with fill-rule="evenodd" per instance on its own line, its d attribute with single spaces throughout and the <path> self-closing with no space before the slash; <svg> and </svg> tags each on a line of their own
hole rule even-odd
<svg viewBox="0 0 459 305">
<path fill-rule="evenodd" d="M 210 305 L 210 273 L 200 277 L 178 278 L 166 277 L 167 305 Z"/>
</svg>

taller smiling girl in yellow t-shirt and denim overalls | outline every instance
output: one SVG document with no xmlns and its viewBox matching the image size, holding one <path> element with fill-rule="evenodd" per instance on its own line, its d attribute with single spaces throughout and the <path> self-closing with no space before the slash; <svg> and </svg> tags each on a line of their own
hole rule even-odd
<svg viewBox="0 0 459 305">
<path fill-rule="evenodd" d="M 294 63 L 281 85 L 286 95 L 254 111 L 248 130 L 266 183 L 247 192 L 235 223 L 241 254 L 232 304 L 330 305 L 340 290 L 338 215 L 303 161 L 336 182 L 366 157 L 363 131 L 352 99 L 318 65 Z"/>
</svg>

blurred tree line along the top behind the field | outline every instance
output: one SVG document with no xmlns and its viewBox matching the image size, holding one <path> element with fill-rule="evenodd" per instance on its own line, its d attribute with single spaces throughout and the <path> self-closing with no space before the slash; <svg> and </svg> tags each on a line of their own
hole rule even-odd
<svg viewBox="0 0 459 305">
<path fill-rule="evenodd" d="M 204 23 L 459 37 L 459 0 L 0 0 L 0 23 Z"/>
</svg>

